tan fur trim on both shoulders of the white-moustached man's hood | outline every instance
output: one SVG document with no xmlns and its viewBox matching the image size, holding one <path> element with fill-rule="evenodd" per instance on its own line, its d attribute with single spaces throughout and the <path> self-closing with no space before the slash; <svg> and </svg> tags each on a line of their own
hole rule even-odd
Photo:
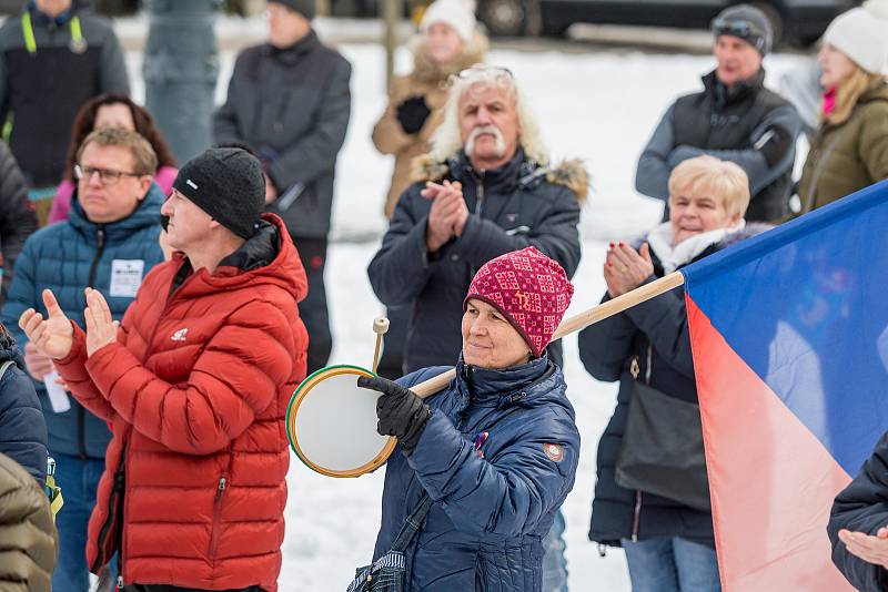
<svg viewBox="0 0 888 592">
<path fill-rule="evenodd" d="M 462 155 L 460 157 L 465 157 Z M 457 159 L 435 161 L 431 154 L 422 154 L 413 159 L 411 166 L 411 183 L 437 182 L 443 180 L 456 165 Z M 553 165 L 539 165 L 527 160 L 525 162 L 527 174 L 518 178 L 519 186 L 529 186 L 534 182 L 545 178 L 548 183 L 564 185 L 576 195 L 582 205 L 588 195 L 589 177 L 585 164 L 579 159 L 569 159 Z"/>
</svg>

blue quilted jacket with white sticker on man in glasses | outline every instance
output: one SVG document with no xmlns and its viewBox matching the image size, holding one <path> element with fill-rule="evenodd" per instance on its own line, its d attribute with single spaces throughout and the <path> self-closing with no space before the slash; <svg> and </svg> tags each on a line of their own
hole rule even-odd
<svg viewBox="0 0 888 592">
<path fill-rule="evenodd" d="M 22 348 L 27 338 L 19 328 L 19 317 L 31 307 L 46 315 L 43 288 L 52 289 L 64 314 L 81 327 L 85 327 L 83 288 L 87 286 L 102 293 L 115 319 L 123 317 L 141 279 L 163 261 L 158 244 L 163 200 L 163 192 L 152 184 L 130 216 L 112 224 L 94 224 L 87 220 L 74 194 L 67 222 L 47 226 L 28 238 L 2 309 L 3 323 Z M 117 278 L 113 283 L 112 275 Z M 83 459 L 104 459 L 111 440 L 104 421 L 83 409 L 73 397 L 69 397 L 70 410 L 56 414 L 42 382 L 37 384 L 37 390 L 47 418 L 50 450 Z"/>
</svg>

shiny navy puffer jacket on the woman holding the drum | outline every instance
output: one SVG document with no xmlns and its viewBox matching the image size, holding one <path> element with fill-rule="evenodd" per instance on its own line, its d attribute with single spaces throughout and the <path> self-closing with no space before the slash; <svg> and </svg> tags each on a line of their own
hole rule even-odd
<svg viewBox="0 0 888 592">
<path fill-rule="evenodd" d="M 434 503 L 405 553 L 406 592 L 538 591 L 541 539 L 574 486 L 579 455 L 564 376 L 545 356 L 505 370 L 462 361 L 456 369 L 447 389 L 427 400 L 433 415 L 413 452 L 398 447 L 389 459 L 374 560 L 424 489 Z"/>
</svg>

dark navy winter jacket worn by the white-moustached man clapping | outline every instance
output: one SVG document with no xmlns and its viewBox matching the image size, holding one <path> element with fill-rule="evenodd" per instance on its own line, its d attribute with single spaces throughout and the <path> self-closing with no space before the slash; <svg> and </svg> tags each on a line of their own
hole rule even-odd
<svg viewBox="0 0 888 592">
<path fill-rule="evenodd" d="M 427 180 L 442 178 L 463 185 L 470 216 L 462 236 L 435 253 L 426 251 L 432 202 L 420 194 L 424 182 L 414 183 L 401 196 L 367 268 L 383 304 L 412 306 L 408 372 L 453 364 L 460 355 L 463 299 L 475 272 L 492 258 L 533 245 L 557 261 L 568 277 L 579 264 L 578 198 L 585 196 L 586 178 L 577 163 L 549 170 L 519 149 L 502 167 L 478 174 L 461 153 L 447 163 L 430 164 Z"/>
</svg>

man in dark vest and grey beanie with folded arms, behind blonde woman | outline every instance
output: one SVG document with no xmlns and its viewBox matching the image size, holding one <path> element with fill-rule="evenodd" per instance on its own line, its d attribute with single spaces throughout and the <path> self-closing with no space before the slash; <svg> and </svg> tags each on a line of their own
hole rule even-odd
<svg viewBox="0 0 888 592">
<path fill-rule="evenodd" d="M 703 91 L 666 111 L 638 159 L 635 188 L 666 202 L 673 169 L 709 154 L 737 163 L 749 177 L 746 220 L 778 222 L 789 213 L 801 121 L 786 99 L 764 85 L 770 22 L 757 8 L 738 4 L 723 10 L 712 28 L 716 68 L 703 76 Z M 663 220 L 668 217 L 666 206 Z"/>
</svg>

